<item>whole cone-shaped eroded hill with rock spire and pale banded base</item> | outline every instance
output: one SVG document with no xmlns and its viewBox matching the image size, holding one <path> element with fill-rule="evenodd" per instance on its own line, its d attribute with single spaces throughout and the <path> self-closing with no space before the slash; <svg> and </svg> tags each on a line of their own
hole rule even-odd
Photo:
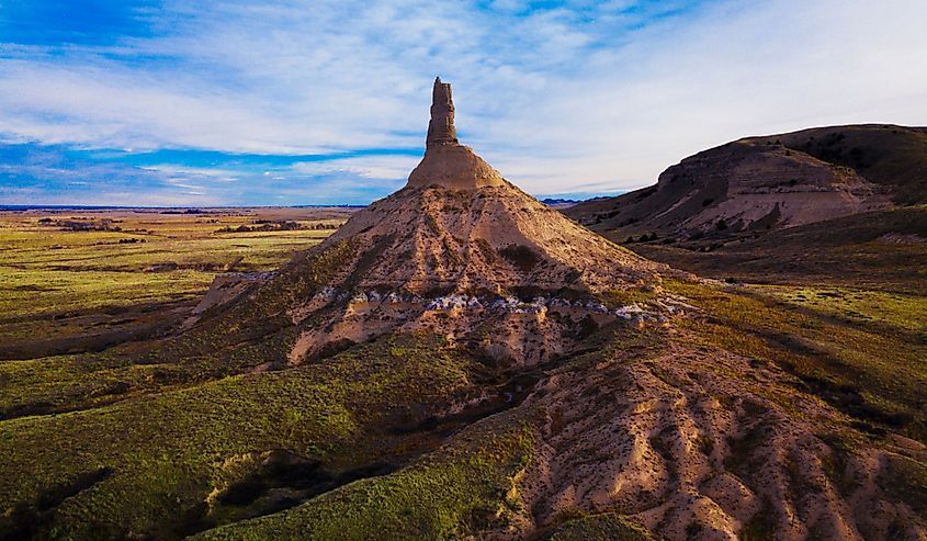
<svg viewBox="0 0 927 541">
<path fill-rule="evenodd" d="M 438 79 L 426 154 L 407 185 L 267 283 L 217 281 L 195 325 L 218 327 L 228 340 L 274 336 L 265 367 L 415 331 L 440 333 L 499 365 L 534 365 L 601 325 L 659 324 L 666 314 L 609 298 L 654 289 L 663 272 L 669 269 L 549 208 L 461 145 L 450 84 Z M 216 333 L 213 340 L 223 342 Z"/>
</svg>

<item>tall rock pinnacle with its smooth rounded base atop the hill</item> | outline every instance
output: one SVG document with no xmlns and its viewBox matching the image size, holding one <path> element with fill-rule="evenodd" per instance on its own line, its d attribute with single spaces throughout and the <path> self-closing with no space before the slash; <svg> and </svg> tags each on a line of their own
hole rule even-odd
<svg viewBox="0 0 927 541">
<path fill-rule="evenodd" d="M 502 176 L 489 164 L 457 142 L 451 84 L 434 79 L 431 91 L 431 120 L 425 142 L 425 157 L 409 174 L 409 187 L 439 185 L 454 190 L 474 190 L 501 185 Z"/>
</svg>

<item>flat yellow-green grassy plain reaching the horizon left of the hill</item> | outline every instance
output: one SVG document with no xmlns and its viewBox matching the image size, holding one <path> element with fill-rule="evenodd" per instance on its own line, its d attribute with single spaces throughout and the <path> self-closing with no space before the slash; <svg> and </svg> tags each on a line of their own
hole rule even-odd
<svg viewBox="0 0 927 541">
<path fill-rule="evenodd" d="M 332 232 L 317 227 L 336 227 L 350 212 L 0 212 L 0 358 L 79 352 L 156 334 L 217 273 L 272 270 Z M 237 230 L 285 222 L 301 228 Z"/>
</svg>

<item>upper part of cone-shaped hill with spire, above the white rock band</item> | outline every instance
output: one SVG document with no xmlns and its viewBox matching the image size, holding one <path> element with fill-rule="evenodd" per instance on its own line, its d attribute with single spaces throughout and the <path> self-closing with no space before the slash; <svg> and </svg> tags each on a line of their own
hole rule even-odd
<svg viewBox="0 0 927 541">
<path fill-rule="evenodd" d="M 431 111 L 425 158 L 408 184 L 353 215 L 321 247 L 355 245 L 352 285 L 420 295 L 598 293 L 659 268 L 549 208 L 459 144 L 450 84 L 440 79 Z"/>
</svg>

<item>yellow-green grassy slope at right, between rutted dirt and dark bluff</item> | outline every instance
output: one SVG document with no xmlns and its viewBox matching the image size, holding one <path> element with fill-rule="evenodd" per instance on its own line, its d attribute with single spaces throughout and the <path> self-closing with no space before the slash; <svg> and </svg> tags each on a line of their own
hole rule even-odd
<svg viewBox="0 0 927 541">
<path fill-rule="evenodd" d="M 682 339 L 777 363 L 845 413 L 927 441 L 927 345 L 911 333 L 796 309 L 751 289 L 666 286 L 703 311 L 680 320 Z"/>
</svg>

